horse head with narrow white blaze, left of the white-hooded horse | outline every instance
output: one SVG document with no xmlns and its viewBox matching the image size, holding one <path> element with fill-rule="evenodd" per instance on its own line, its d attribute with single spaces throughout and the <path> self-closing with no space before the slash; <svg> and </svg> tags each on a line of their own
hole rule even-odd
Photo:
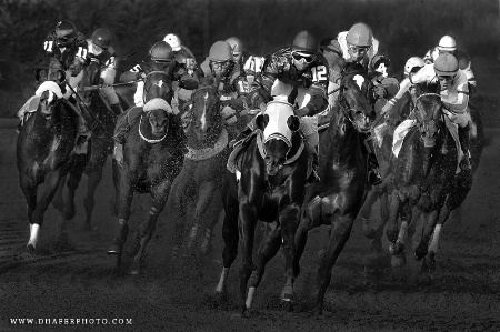
<svg viewBox="0 0 500 332">
<path fill-rule="evenodd" d="M 213 85 L 202 85 L 192 95 L 192 128 L 199 141 L 220 133 L 223 123 L 219 91 Z"/>
</svg>

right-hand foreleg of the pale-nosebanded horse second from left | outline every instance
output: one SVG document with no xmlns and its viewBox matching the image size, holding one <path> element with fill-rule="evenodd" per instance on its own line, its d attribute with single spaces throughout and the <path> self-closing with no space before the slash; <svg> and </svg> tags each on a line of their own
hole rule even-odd
<svg viewBox="0 0 500 332">
<path fill-rule="evenodd" d="M 139 232 L 136 237 L 136 245 L 131 250 L 130 255 L 134 256 L 130 274 L 139 274 L 140 270 L 146 264 L 146 248 L 149 240 L 151 240 L 157 229 L 158 215 L 163 211 L 164 204 L 170 193 L 170 181 L 164 181 L 159 185 L 151 188 L 151 195 L 153 198 L 152 207 L 149 210 L 148 217 L 142 221 Z"/>
</svg>

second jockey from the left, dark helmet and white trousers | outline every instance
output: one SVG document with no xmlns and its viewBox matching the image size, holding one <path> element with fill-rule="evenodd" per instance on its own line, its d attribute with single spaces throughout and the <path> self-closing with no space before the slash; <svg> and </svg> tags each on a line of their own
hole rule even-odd
<svg viewBox="0 0 500 332">
<path fill-rule="evenodd" d="M 101 80 L 103 84 L 110 85 L 114 83 L 117 76 L 117 54 L 111 47 L 111 32 L 106 28 L 99 28 L 92 33 L 92 38 L 87 40 L 89 46 L 89 54 L 99 60 L 101 66 Z M 101 88 L 111 110 L 117 114 L 121 114 L 123 109 L 120 105 L 117 92 L 112 87 Z"/>
</svg>

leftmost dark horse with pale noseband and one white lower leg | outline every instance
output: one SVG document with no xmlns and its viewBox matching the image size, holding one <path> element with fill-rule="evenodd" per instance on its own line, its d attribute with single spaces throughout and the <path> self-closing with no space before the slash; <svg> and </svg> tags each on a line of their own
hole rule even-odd
<svg viewBox="0 0 500 332">
<path fill-rule="evenodd" d="M 50 204 L 60 180 L 69 174 L 70 194 L 80 182 L 86 157 L 74 154 L 73 149 L 78 133 L 78 117 L 71 105 L 62 98 L 59 84 L 64 80 L 64 71 L 58 59 L 47 59 L 46 66 L 38 74 L 44 81 L 37 90 L 40 97 L 38 109 L 28 117 L 19 132 L 17 143 L 17 163 L 19 184 L 28 204 L 30 221 L 30 240 L 26 252 L 32 255 L 43 223 L 44 212 Z M 38 185 L 44 183 L 40 201 L 37 202 Z M 74 202 L 70 200 L 63 208 L 64 220 L 74 218 Z"/>
</svg>

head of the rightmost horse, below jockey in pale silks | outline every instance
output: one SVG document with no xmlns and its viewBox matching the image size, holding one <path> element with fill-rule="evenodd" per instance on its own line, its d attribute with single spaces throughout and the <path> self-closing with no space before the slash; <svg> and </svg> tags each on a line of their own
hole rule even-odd
<svg viewBox="0 0 500 332">
<path fill-rule="evenodd" d="M 412 114 L 417 120 L 420 140 L 426 148 L 433 148 L 442 120 L 441 94 L 439 84 L 422 83 L 416 85 Z"/>
</svg>

